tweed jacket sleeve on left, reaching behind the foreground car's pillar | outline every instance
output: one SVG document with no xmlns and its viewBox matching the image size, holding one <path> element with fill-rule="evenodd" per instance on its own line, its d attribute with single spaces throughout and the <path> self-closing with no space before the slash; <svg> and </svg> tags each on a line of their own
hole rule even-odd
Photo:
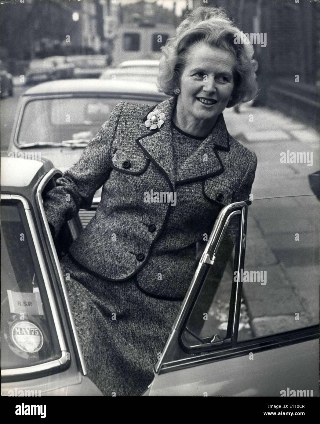
<svg viewBox="0 0 320 424">
<path fill-rule="evenodd" d="M 95 192 L 109 176 L 110 151 L 123 105 L 124 102 L 120 102 L 115 106 L 79 161 L 58 178 L 56 187 L 46 194 L 43 206 L 53 238 L 79 209 L 90 208 Z"/>
</svg>

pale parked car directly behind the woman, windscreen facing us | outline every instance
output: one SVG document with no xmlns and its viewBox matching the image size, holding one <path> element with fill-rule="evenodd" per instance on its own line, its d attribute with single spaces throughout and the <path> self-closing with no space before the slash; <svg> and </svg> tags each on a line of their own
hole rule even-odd
<svg viewBox="0 0 320 424">
<path fill-rule="evenodd" d="M 22 157 L 40 154 L 65 172 L 118 102 L 157 104 L 166 98 L 155 84 L 142 82 L 73 79 L 39 84 L 20 98 L 8 151 Z M 93 210 L 81 212 L 84 226 L 94 214 L 100 192 Z"/>
</svg>

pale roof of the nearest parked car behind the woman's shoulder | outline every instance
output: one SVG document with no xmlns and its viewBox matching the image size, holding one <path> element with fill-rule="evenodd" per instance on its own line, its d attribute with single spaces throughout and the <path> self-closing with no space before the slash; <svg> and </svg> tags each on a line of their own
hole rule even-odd
<svg viewBox="0 0 320 424">
<path fill-rule="evenodd" d="M 48 81 L 29 88 L 22 96 L 70 93 L 127 94 L 138 95 L 140 97 L 143 97 L 143 95 L 167 97 L 165 94 L 158 91 L 156 84 L 151 82 L 137 81 L 135 84 L 132 84 L 132 81 L 114 81 L 98 78 Z"/>
</svg>

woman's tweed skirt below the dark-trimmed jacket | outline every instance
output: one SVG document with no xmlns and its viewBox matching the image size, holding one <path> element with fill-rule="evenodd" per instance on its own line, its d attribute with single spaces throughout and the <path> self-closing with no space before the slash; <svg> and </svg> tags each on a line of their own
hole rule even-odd
<svg viewBox="0 0 320 424">
<path fill-rule="evenodd" d="M 142 395 L 182 301 L 148 296 L 135 278 L 103 281 L 67 256 L 60 263 L 87 376 L 105 396 Z"/>
</svg>

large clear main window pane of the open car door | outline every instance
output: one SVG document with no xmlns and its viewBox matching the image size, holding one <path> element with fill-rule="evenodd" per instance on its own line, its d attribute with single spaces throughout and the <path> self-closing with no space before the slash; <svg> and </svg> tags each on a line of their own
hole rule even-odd
<svg viewBox="0 0 320 424">
<path fill-rule="evenodd" d="M 316 196 L 252 202 L 242 278 L 253 338 L 318 324 Z"/>
</svg>

